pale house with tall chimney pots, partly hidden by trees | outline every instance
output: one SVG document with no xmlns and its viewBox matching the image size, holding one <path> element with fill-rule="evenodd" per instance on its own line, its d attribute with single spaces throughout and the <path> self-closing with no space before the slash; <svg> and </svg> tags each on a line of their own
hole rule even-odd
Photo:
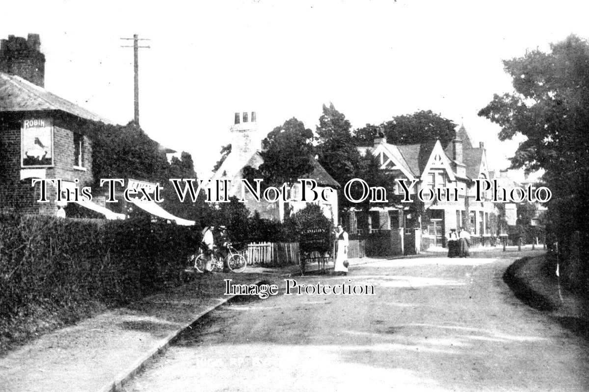
<svg viewBox="0 0 589 392">
<path fill-rule="evenodd" d="M 244 177 L 243 170 L 246 166 L 252 166 L 258 169 L 264 162 L 261 152 L 261 136 L 258 132 L 256 122 L 256 112 L 252 112 L 251 120 L 249 113 L 235 113 L 234 124 L 230 128 L 231 132 L 231 152 L 226 159 L 221 163 L 219 169 L 211 177 L 209 187 L 214 189 L 217 182 L 221 180 L 230 180 L 229 196 L 242 195 L 241 179 Z M 326 187 L 337 190 L 340 185 L 333 179 L 332 176 L 317 162 L 316 159 L 310 158 L 313 166 L 312 172 L 307 174 L 305 178 L 313 179 L 317 182 L 317 192 L 322 192 Z M 252 184 L 254 185 L 254 184 Z M 213 190 L 214 192 L 214 190 Z M 295 213 L 307 205 L 309 202 L 296 201 L 300 200 L 302 189 L 300 183 L 294 184 L 290 187 L 287 199 L 294 200 L 289 202 L 266 202 L 264 199 L 257 202 L 253 199 L 249 191 L 246 190 L 246 207 L 250 212 L 258 212 L 261 217 L 274 220 L 282 220 L 288 213 Z M 317 200 L 313 202 L 321 207 L 325 216 L 337 224 L 337 192 L 332 192 L 328 201 Z"/>
</svg>

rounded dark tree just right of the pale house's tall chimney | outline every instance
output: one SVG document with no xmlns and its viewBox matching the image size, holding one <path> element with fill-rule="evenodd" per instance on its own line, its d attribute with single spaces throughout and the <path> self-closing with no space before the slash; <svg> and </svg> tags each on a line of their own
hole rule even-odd
<svg viewBox="0 0 589 392">
<path fill-rule="evenodd" d="M 293 184 L 312 172 L 315 153 L 313 132 L 303 122 L 292 118 L 274 128 L 262 141 L 260 153 L 264 163 L 259 169 L 244 168 L 246 179 L 263 178 L 265 185 Z"/>
</svg>

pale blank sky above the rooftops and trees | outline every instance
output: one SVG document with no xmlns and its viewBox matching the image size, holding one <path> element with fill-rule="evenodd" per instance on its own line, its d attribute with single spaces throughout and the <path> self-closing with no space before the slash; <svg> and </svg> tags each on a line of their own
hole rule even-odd
<svg viewBox="0 0 589 392">
<path fill-rule="evenodd" d="M 589 38 L 582 1 L 27 1 L 2 5 L 0 38 L 41 35 L 45 88 L 116 123 L 133 119 L 140 49 L 140 123 L 190 152 L 209 176 L 235 112 L 260 136 L 292 117 L 315 130 L 332 102 L 353 128 L 432 110 L 509 165 L 521 139 L 500 142 L 478 111 L 511 92 L 502 60 Z"/>
</svg>

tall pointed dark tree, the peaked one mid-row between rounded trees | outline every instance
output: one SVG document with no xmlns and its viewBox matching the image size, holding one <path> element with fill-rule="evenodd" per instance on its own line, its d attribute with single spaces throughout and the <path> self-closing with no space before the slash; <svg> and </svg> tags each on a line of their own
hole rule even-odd
<svg viewBox="0 0 589 392">
<path fill-rule="evenodd" d="M 329 108 L 323 105 L 317 126 L 318 160 L 341 186 L 356 177 L 360 165 L 360 153 L 350 128 L 349 120 L 335 109 L 333 103 Z"/>
</svg>

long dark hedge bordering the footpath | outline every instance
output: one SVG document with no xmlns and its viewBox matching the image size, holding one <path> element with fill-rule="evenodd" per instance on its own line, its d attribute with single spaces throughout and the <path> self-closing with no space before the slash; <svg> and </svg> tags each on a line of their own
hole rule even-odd
<svg viewBox="0 0 589 392">
<path fill-rule="evenodd" d="M 0 215 L 3 340 L 39 310 L 125 303 L 176 282 L 199 237 L 191 227 L 148 219 Z"/>
</svg>

